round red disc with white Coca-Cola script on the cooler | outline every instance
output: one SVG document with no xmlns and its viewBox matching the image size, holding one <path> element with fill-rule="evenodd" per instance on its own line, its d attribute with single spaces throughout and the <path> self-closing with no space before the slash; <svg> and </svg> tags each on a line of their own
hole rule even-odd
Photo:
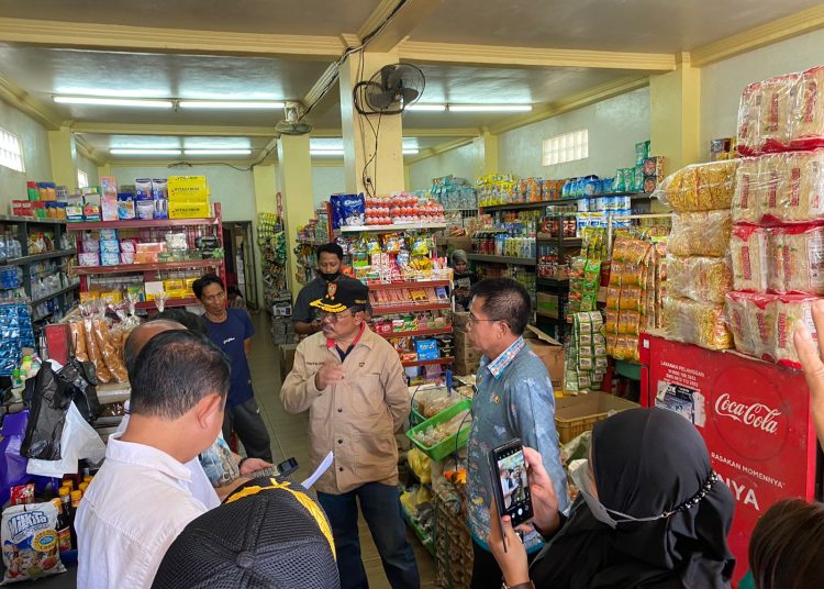
<svg viewBox="0 0 824 589">
<path fill-rule="evenodd" d="M 781 455 L 792 429 L 792 408 L 781 387 L 797 373 L 756 363 L 723 370 L 712 386 L 708 415 L 716 434 L 739 458 L 769 460 Z"/>
</svg>

